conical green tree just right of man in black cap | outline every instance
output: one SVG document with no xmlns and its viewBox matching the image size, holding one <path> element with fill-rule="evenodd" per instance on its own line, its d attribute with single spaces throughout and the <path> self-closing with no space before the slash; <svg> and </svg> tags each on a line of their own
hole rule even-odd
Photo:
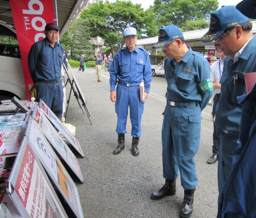
<svg viewBox="0 0 256 218">
<path fill-rule="evenodd" d="M 60 39 L 60 43 L 64 49 L 71 49 L 72 58 L 80 59 L 81 55 L 84 54 L 85 60 L 90 60 L 94 50 L 91 44 L 88 20 L 83 18 L 75 19 Z"/>
</svg>

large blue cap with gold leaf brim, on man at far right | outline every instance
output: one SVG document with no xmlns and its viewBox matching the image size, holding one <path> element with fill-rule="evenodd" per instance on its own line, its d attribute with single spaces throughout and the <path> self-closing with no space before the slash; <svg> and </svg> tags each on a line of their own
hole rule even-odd
<svg viewBox="0 0 256 218">
<path fill-rule="evenodd" d="M 222 6 L 219 10 L 211 13 L 209 31 L 199 40 L 211 42 L 217 39 L 225 29 L 240 25 L 248 21 L 235 6 Z"/>
</svg>

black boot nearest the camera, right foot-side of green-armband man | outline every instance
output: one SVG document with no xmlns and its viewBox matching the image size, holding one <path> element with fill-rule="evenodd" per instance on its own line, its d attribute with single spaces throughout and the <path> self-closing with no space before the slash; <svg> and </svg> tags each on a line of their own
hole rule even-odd
<svg viewBox="0 0 256 218">
<path fill-rule="evenodd" d="M 193 212 L 195 188 L 191 190 L 184 190 L 184 199 L 181 206 L 180 217 L 190 217 Z"/>
</svg>

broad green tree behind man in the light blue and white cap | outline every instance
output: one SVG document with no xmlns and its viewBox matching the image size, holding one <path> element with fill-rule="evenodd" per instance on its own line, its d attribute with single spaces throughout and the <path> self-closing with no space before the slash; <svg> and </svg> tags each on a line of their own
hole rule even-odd
<svg viewBox="0 0 256 218">
<path fill-rule="evenodd" d="M 110 3 L 106 1 L 102 3 L 89 4 L 88 9 L 84 9 L 80 15 L 81 18 L 87 18 L 92 37 L 100 36 L 105 39 L 104 46 L 110 48 L 111 53 L 115 54 L 124 46 L 122 40 L 122 31 L 124 28 L 132 26 L 137 29 L 138 38 L 152 36 L 155 34 L 154 12 L 145 13 L 141 8 L 141 4 L 133 4 L 131 1 L 120 1 Z M 155 23 L 155 29 L 157 29 Z"/>
</svg>

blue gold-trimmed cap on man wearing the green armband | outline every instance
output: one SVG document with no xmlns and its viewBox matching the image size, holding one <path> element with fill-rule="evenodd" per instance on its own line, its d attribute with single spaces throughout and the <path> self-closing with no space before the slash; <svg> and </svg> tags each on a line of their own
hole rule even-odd
<svg viewBox="0 0 256 218">
<path fill-rule="evenodd" d="M 158 42 L 152 48 L 162 48 L 171 40 L 178 39 L 183 36 L 181 30 L 175 25 L 168 25 L 158 31 Z"/>
</svg>

